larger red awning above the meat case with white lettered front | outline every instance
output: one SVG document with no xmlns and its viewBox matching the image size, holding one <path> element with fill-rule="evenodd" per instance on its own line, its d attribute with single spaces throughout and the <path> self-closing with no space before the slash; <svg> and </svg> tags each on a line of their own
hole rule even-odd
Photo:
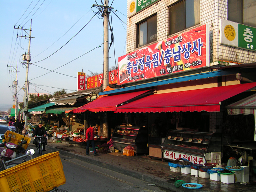
<svg viewBox="0 0 256 192">
<path fill-rule="evenodd" d="M 149 95 L 116 108 L 124 112 L 220 111 L 220 102 L 256 86 L 256 83 Z"/>
</svg>

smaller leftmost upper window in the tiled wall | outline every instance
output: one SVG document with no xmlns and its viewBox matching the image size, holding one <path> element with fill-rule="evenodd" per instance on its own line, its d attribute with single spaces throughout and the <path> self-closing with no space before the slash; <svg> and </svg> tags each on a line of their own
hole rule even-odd
<svg viewBox="0 0 256 192">
<path fill-rule="evenodd" d="M 157 40 L 157 15 L 148 18 L 138 24 L 137 47 L 149 44 Z"/>
</svg>

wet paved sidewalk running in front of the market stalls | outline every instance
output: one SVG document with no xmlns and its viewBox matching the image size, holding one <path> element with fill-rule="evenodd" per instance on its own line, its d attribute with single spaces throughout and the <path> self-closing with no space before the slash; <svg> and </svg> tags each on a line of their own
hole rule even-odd
<svg viewBox="0 0 256 192">
<path fill-rule="evenodd" d="M 30 145 L 33 145 L 33 139 L 31 137 Z M 187 183 L 200 183 L 203 185 L 202 188 L 196 189 L 197 191 L 220 191 L 220 192 L 232 192 L 232 191 L 256 191 L 256 180 L 255 177 L 250 176 L 249 184 L 232 183 L 225 184 L 220 181 L 213 181 L 204 178 L 199 178 L 195 176 L 190 176 L 190 174 L 183 174 L 181 172 L 175 173 L 170 171 L 168 161 L 163 162 L 160 159 L 150 159 L 149 156 L 124 156 L 121 153 L 108 153 L 99 154 L 98 156 L 86 156 L 85 148 L 86 145 L 71 146 L 62 143 L 56 143 L 48 140 L 46 145 L 47 150 L 59 151 L 60 154 L 76 158 L 91 164 L 98 165 L 100 167 L 123 173 L 134 178 L 144 180 L 150 184 L 156 184 L 157 186 L 170 189 L 173 191 L 190 191 L 189 189 L 180 186 L 176 188 L 174 186 L 175 179 L 184 180 Z"/>
</svg>

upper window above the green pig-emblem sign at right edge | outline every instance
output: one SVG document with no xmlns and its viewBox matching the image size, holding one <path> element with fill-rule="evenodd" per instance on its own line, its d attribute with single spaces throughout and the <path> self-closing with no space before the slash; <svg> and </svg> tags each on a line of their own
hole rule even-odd
<svg viewBox="0 0 256 192">
<path fill-rule="evenodd" d="M 228 0 L 228 20 L 256 27 L 255 0 Z"/>
</svg>

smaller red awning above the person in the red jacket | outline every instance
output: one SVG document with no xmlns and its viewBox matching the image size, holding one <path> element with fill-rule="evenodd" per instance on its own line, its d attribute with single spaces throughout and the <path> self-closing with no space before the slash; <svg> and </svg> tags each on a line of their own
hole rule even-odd
<svg viewBox="0 0 256 192">
<path fill-rule="evenodd" d="M 146 92 L 148 92 L 149 94 L 150 90 L 101 97 L 99 99 L 93 100 L 90 103 L 85 104 L 80 108 L 73 109 L 73 111 L 74 113 L 82 113 L 86 110 L 92 112 L 116 111 L 117 106 L 121 105 L 122 103 L 128 102 L 129 100 L 136 99 L 139 96 L 145 95 Z"/>
</svg>

